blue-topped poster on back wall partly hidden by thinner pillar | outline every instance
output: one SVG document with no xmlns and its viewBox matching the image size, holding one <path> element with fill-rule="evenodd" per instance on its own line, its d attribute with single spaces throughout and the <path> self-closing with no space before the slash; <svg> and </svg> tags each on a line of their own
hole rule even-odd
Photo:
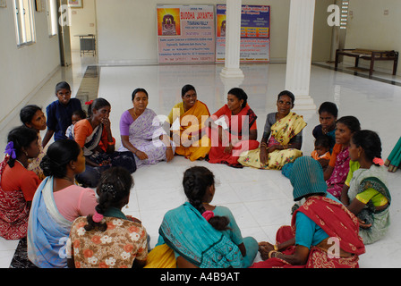
<svg viewBox="0 0 401 286">
<path fill-rule="evenodd" d="M 226 4 L 218 4 L 216 13 L 216 62 L 220 63 L 224 62 L 226 55 Z M 269 63 L 270 6 L 242 6 L 240 61 Z"/>
</svg>

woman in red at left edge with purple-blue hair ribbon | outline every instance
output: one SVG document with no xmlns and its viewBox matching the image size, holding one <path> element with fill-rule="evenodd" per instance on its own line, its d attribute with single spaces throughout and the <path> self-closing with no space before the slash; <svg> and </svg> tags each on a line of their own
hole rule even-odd
<svg viewBox="0 0 401 286">
<path fill-rule="evenodd" d="M 8 133 L 4 161 L 0 164 L 0 236 L 21 240 L 27 235 L 30 205 L 40 180 L 28 170 L 31 158 L 38 157 L 37 130 L 25 126 Z"/>
</svg>

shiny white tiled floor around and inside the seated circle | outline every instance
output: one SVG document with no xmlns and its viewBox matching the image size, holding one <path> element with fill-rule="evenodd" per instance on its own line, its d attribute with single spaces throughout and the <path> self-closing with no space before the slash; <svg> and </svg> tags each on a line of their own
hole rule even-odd
<svg viewBox="0 0 401 286">
<path fill-rule="evenodd" d="M 46 108 L 54 100 L 53 89 L 60 80 L 73 82 L 73 94 L 76 93 L 84 68 L 91 61 L 90 57 L 75 57 L 73 67 L 57 72 L 30 103 Z M 191 83 L 197 88 L 198 98 L 214 113 L 226 102 L 226 88 L 219 78 L 221 69 L 222 65 L 214 64 L 102 67 L 98 97 L 107 98 L 112 105 L 112 130 L 117 144 L 120 142 L 119 118 L 131 106 L 134 88 L 146 88 L 149 92 L 148 107 L 157 114 L 167 114 L 181 99 L 180 90 L 183 85 Z M 259 116 L 257 123 L 260 139 L 266 114 L 276 111 L 277 94 L 285 87 L 286 64 L 243 65 L 242 70 L 245 78 L 241 88 L 247 92 L 249 104 Z M 401 82 L 398 77 L 388 76 L 388 79 Z M 353 114 L 361 121 L 363 129 L 378 131 L 382 140 L 383 158 L 387 158 L 401 136 L 397 118 L 401 107 L 401 87 L 397 85 L 312 65 L 311 97 L 317 107 L 324 101 L 336 102 L 339 117 Z M 313 148 L 311 130 L 318 124 L 317 112 L 312 110 L 299 113 L 304 114 L 308 122 L 303 131 L 303 154 L 310 155 Z M 7 127 L 0 130 L 2 138 L 5 138 L 11 127 L 18 124 L 18 118 L 12 119 Z M 0 147 L 4 148 L 4 142 L 1 144 Z M 133 174 L 135 185 L 129 207 L 124 208 L 126 214 L 141 219 L 150 234 L 152 247 L 158 240 L 158 226 L 163 215 L 185 200 L 181 180 L 183 171 L 192 165 L 204 165 L 214 172 L 218 184 L 213 203 L 228 206 L 232 210 L 243 236 L 273 241 L 278 227 L 290 223 L 290 210 L 294 205 L 292 189 L 289 180 L 281 172 L 235 169 L 205 161 L 190 162 L 176 156 L 171 163 L 162 162 L 137 170 Z M 401 202 L 400 174 L 401 171 L 388 173 L 393 198 L 390 211 L 392 225 L 384 240 L 366 247 L 366 253 L 360 257 L 360 266 L 363 268 L 401 266 L 401 242 L 398 239 L 401 235 L 401 207 L 398 204 Z M 10 265 L 17 243 L 0 239 L 0 267 Z"/>
</svg>

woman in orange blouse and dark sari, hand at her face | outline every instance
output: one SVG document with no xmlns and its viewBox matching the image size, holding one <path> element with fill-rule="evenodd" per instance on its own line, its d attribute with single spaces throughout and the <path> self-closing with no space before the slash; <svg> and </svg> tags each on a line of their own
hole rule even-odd
<svg viewBox="0 0 401 286">
<path fill-rule="evenodd" d="M 124 167 L 131 173 L 136 171 L 132 152 L 115 151 L 110 112 L 110 103 L 98 97 L 89 103 L 89 117 L 74 125 L 74 139 L 83 149 L 87 166 L 84 172 L 77 175 L 76 180 L 85 187 L 96 188 L 101 172 L 111 166 Z"/>
</svg>

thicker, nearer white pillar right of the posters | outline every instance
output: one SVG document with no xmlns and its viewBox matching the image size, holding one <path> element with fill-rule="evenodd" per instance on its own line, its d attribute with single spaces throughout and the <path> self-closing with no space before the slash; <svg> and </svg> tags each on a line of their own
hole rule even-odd
<svg viewBox="0 0 401 286">
<path fill-rule="evenodd" d="M 291 0 L 286 59 L 286 89 L 294 93 L 294 110 L 315 109 L 309 95 L 315 0 Z"/>
</svg>

